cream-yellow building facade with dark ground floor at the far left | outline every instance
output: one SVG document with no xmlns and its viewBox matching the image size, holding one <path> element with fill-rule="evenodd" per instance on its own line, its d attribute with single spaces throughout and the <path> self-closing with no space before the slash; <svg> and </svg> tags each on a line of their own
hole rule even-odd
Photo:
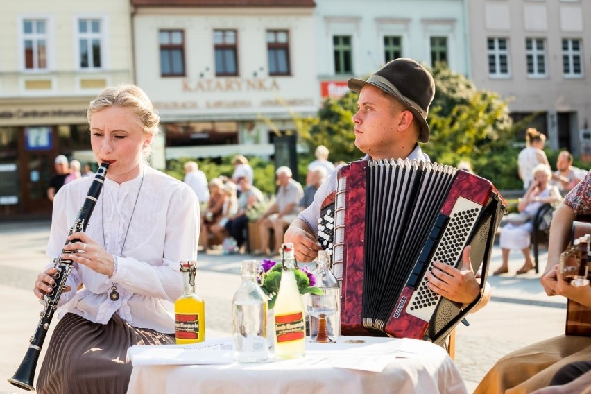
<svg viewBox="0 0 591 394">
<path fill-rule="evenodd" d="M 133 81 L 128 2 L 9 1 L 0 13 L 0 219 L 51 213 L 56 155 L 94 162 L 86 108 Z"/>
</svg>

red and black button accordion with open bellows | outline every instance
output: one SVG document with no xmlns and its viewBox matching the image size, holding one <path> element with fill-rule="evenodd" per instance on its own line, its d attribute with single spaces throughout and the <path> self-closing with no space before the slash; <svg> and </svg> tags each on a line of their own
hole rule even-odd
<svg viewBox="0 0 591 394">
<path fill-rule="evenodd" d="M 444 341 L 481 295 L 462 309 L 427 287 L 427 272 L 435 261 L 461 266 L 471 245 L 483 289 L 505 209 L 497 189 L 451 166 L 409 160 L 353 162 L 337 178 L 323 216 L 334 214 L 341 333 Z"/>
</svg>

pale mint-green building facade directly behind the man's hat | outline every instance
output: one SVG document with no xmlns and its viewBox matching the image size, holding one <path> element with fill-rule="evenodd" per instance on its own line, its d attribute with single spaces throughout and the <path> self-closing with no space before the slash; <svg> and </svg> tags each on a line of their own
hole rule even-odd
<svg viewBox="0 0 591 394">
<path fill-rule="evenodd" d="M 470 74 L 464 0 L 323 0 L 316 6 L 316 58 L 323 97 L 349 91 L 348 78 L 366 78 L 395 58 L 427 66 L 446 62 Z"/>
</svg>

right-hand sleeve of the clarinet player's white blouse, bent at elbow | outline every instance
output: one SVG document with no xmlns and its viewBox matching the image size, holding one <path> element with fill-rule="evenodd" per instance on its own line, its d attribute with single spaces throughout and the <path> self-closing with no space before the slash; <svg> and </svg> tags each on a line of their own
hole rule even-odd
<svg viewBox="0 0 591 394">
<path fill-rule="evenodd" d="M 182 185 L 173 193 L 166 209 L 162 265 L 117 257 L 117 271 L 110 280 L 133 293 L 174 302 L 182 294 L 179 262 L 197 256 L 199 203 L 194 192 Z"/>
</svg>

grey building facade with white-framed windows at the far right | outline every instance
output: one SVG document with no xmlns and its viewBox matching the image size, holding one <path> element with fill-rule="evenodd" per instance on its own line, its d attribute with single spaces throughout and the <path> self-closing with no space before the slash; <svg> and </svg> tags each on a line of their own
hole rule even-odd
<svg viewBox="0 0 591 394">
<path fill-rule="evenodd" d="M 591 2 L 470 0 L 468 15 L 477 87 L 535 116 L 550 148 L 591 158 Z"/>
</svg>

